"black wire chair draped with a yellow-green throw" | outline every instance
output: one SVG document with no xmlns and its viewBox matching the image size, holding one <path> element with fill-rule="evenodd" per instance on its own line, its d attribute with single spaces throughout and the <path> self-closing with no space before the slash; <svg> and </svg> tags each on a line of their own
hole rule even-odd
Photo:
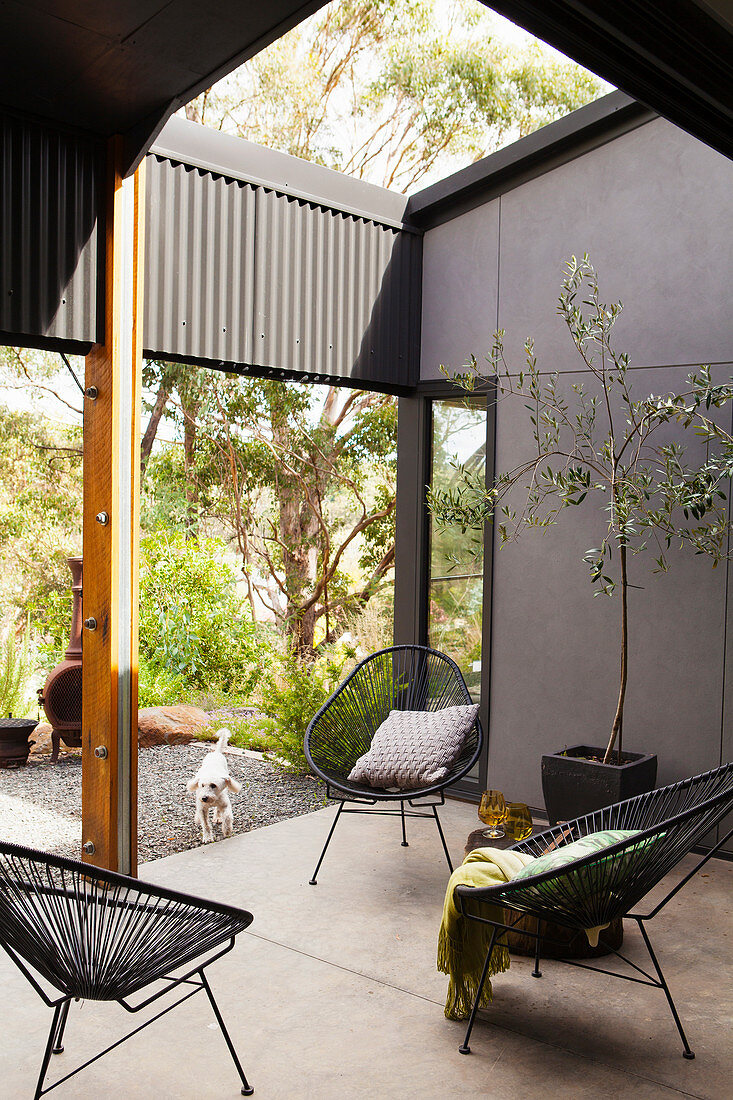
<svg viewBox="0 0 733 1100">
<path fill-rule="evenodd" d="M 558 870 L 545 871 L 501 886 L 472 889 L 456 888 L 456 901 L 463 916 L 478 921 L 490 930 L 483 974 L 473 1002 L 461 1054 L 470 1054 L 469 1040 L 481 1001 L 483 985 L 489 970 L 491 953 L 502 943 L 526 913 L 537 917 L 537 931 L 525 926 L 523 935 L 536 941 L 533 977 L 541 977 L 539 959 L 543 944 L 543 923 L 551 922 L 578 930 L 598 928 L 617 917 L 636 921 L 655 974 L 652 975 L 605 945 L 634 971 L 623 974 L 601 967 L 561 959 L 571 966 L 595 970 L 615 978 L 623 978 L 643 986 L 664 990 L 672 1018 L 682 1040 L 683 1057 L 693 1058 L 685 1030 L 677 1013 L 669 987 L 652 947 L 645 923 L 650 921 L 696 875 L 708 860 L 733 836 L 730 829 L 660 901 L 647 913 L 633 912 L 634 908 L 672 868 L 698 845 L 733 810 L 733 763 L 714 771 L 638 794 L 625 802 L 617 802 L 593 814 L 578 817 L 555 826 L 513 845 L 512 850 L 540 856 L 546 851 L 570 844 L 590 833 L 603 829 L 638 829 L 635 836 L 573 860 Z M 504 922 L 486 915 L 485 906 L 503 909 Z M 494 911 L 495 915 L 495 911 Z M 601 937 L 602 939 L 602 937 Z M 547 941 L 549 942 L 549 941 Z"/>
</svg>

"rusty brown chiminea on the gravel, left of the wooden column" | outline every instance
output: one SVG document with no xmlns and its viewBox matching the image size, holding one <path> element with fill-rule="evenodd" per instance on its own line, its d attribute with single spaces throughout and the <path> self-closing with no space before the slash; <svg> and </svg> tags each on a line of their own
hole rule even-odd
<svg viewBox="0 0 733 1100">
<path fill-rule="evenodd" d="M 39 702 L 43 704 L 51 723 L 53 754 L 58 760 L 58 748 L 63 740 L 69 748 L 81 745 L 81 558 L 68 558 L 72 570 L 72 637 L 64 660 L 52 669 L 46 682 L 39 690 Z"/>
</svg>

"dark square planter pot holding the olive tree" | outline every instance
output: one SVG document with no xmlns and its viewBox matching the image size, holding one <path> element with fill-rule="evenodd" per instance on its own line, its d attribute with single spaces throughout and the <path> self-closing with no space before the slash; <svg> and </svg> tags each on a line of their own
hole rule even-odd
<svg viewBox="0 0 733 1100">
<path fill-rule="evenodd" d="M 562 752 L 543 756 L 543 794 L 550 825 L 582 817 L 654 790 L 657 781 L 655 755 L 626 752 L 627 759 L 622 765 L 582 759 L 586 755 L 602 758 L 604 751 L 575 745 Z"/>
</svg>

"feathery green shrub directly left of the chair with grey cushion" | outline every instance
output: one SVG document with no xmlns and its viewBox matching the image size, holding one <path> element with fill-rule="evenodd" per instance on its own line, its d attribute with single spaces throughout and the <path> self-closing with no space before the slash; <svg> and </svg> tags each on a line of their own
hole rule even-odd
<svg viewBox="0 0 733 1100">
<path fill-rule="evenodd" d="M 274 754 L 296 771 L 308 771 L 303 751 L 310 719 L 343 679 L 346 666 L 355 659 L 348 646 L 324 649 L 315 661 L 298 660 L 295 653 L 273 654 L 273 666 L 263 679 L 262 723 Z"/>
</svg>

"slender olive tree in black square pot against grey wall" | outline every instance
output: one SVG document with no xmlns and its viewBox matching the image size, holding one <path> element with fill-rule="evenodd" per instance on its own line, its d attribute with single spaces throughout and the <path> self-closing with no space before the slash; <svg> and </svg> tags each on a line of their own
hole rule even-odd
<svg viewBox="0 0 733 1100">
<path fill-rule="evenodd" d="M 582 360 L 588 382 L 562 392 L 557 373 L 540 375 L 532 341 L 526 369 L 512 371 L 503 331 L 488 358 L 497 402 L 521 400 L 528 410 L 533 443 L 526 460 L 499 473 L 486 486 L 469 468 L 456 463 L 456 480 L 429 493 L 428 507 L 439 525 L 480 531 L 494 522 L 500 543 L 527 529 L 546 529 L 565 509 L 595 502 L 605 508 L 598 546 L 586 561 L 595 595 L 620 596 L 620 682 L 608 745 L 580 745 L 543 759 L 543 788 L 550 818 L 568 820 L 620 799 L 650 790 L 656 757 L 624 752 L 622 733 L 628 681 L 628 558 L 650 550 L 655 571 L 668 569 L 667 551 L 691 547 L 713 566 L 727 554 L 729 514 L 724 486 L 733 472 L 733 438 L 712 410 L 733 397 L 733 386 L 714 385 L 710 369 L 688 375 L 679 393 L 636 398 L 628 356 L 612 336 L 622 304 L 605 305 L 588 255 L 566 265 L 558 312 Z M 461 388 L 485 386 L 475 356 L 453 376 Z M 675 431 L 660 432 L 664 426 Z M 692 429 L 696 460 L 680 439 Z M 672 441 L 670 441 L 670 438 Z"/>
</svg>

